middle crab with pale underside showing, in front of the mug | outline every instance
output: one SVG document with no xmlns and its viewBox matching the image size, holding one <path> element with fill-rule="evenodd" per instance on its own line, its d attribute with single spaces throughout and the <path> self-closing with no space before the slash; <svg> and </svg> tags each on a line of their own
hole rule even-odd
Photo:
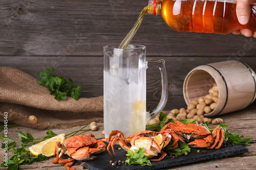
<svg viewBox="0 0 256 170">
<path fill-rule="evenodd" d="M 158 144 L 154 140 L 154 136 L 156 136 L 158 134 L 162 134 L 162 136 L 163 136 L 160 144 Z M 114 137 L 112 137 L 112 136 L 114 136 Z M 179 140 L 181 140 L 181 141 L 183 141 L 183 140 L 177 134 L 175 134 L 175 132 L 173 132 L 171 129 L 162 130 L 160 132 L 149 131 L 149 130 L 141 131 L 141 132 L 134 133 L 127 137 L 125 137 L 121 131 L 114 130 L 109 135 L 109 139 L 108 139 L 109 145 L 108 145 L 107 150 L 112 155 L 112 153 L 110 152 L 110 148 L 112 148 L 112 150 L 115 154 L 114 144 L 117 142 L 120 145 L 120 147 L 122 147 L 125 151 L 128 151 L 132 146 L 135 146 L 136 148 L 144 148 L 145 154 L 157 156 L 158 153 L 160 153 L 161 154 L 160 158 L 151 159 L 154 161 L 160 161 L 166 156 L 166 153 L 161 151 L 160 145 L 162 143 L 164 143 L 163 148 L 166 147 L 166 145 L 169 143 L 170 139 L 172 139 L 172 138 L 174 138 L 174 140 L 175 140 L 174 144 L 173 144 L 175 147 L 172 149 L 175 149 L 178 147 L 177 142 Z M 153 148 L 155 149 L 156 152 L 152 150 Z"/>
</svg>

